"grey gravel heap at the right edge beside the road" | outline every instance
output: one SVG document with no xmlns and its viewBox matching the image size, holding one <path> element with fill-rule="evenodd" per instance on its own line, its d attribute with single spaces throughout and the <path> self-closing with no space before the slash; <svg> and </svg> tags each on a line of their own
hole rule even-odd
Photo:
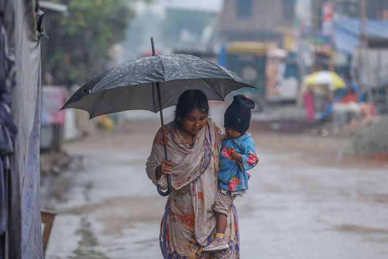
<svg viewBox="0 0 388 259">
<path fill-rule="evenodd" d="M 388 118 L 375 118 L 368 127 L 357 131 L 349 150 L 356 154 L 388 154 Z"/>
</svg>

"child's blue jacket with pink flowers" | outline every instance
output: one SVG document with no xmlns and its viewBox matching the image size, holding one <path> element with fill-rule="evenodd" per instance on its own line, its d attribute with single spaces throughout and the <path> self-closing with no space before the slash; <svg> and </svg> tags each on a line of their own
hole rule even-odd
<svg viewBox="0 0 388 259">
<path fill-rule="evenodd" d="M 242 156 L 242 163 L 229 156 L 230 148 Z M 224 134 L 219 158 L 218 182 L 221 188 L 230 191 L 248 190 L 250 173 L 259 162 L 256 155 L 255 142 L 251 134 L 245 133 L 239 138 L 227 138 Z"/>
</svg>

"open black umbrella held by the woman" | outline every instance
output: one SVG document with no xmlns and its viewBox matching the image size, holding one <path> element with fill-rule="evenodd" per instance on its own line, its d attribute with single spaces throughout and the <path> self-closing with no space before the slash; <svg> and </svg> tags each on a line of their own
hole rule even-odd
<svg viewBox="0 0 388 259">
<path fill-rule="evenodd" d="M 90 118 L 124 110 L 160 111 L 163 127 L 162 109 L 176 105 L 185 90 L 198 89 L 208 100 L 224 101 L 233 90 L 256 88 L 228 69 L 193 55 L 155 55 L 152 38 L 151 44 L 152 56 L 129 60 L 97 76 L 78 89 L 62 109 L 86 110 Z M 162 134 L 164 140 L 163 130 Z M 168 160 L 165 143 L 164 155 Z M 166 192 L 158 185 L 162 196 L 171 192 L 169 175 L 167 185 Z"/>
</svg>

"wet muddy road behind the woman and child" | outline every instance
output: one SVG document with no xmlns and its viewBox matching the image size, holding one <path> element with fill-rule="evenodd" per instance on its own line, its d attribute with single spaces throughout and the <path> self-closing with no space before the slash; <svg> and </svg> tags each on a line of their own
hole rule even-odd
<svg viewBox="0 0 388 259">
<path fill-rule="evenodd" d="M 165 114 L 169 121 L 171 109 Z M 220 114 L 213 108 L 215 121 Z M 41 189 L 42 207 L 59 212 L 47 259 L 162 258 L 166 198 L 145 173 L 159 117 L 129 117 L 122 133 L 65 145 L 83 159 Z M 250 132 L 260 161 L 247 196 L 235 201 L 243 259 L 388 258 L 388 163 L 339 160 L 343 139 L 262 132 L 254 123 Z"/>
</svg>

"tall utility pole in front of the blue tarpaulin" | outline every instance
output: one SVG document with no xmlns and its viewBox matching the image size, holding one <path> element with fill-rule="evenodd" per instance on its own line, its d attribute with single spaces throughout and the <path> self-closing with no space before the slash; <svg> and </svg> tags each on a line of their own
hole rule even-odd
<svg viewBox="0 0 388 259">
<path fill-rule="evenodd" d="M 372 86 L 371 86 L 371 68 L 369 64 L 369 46 L 368 46 L 368 30 L 367 30 L 367 14 L 366 14 L 366 0 L 358 0 L 359 4 L 359 74 L 366 73 L 367 77 L 367 94 L 368 102 L 372 102 Z M 366 70 L 366 71 L 365 71 Z"/>
</svg>

